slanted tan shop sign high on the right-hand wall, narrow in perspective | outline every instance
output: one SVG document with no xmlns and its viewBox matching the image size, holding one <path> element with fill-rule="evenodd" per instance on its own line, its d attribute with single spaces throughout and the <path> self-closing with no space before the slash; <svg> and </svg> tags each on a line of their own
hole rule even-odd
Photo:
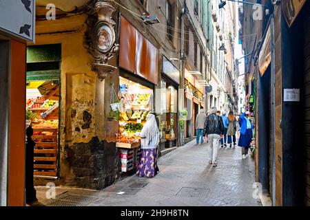
<svg viewBox="0 0 310 220">
<path fill-rule="evenodd" d="M 271 63 L 271 32 L 269 25 L 264 42 L 262 43 L 260 54 L 258 56 L 258 67 L 260 70 L 260 76 L 265 74 L 265 71 L 270 63 Z"/>
</svg>

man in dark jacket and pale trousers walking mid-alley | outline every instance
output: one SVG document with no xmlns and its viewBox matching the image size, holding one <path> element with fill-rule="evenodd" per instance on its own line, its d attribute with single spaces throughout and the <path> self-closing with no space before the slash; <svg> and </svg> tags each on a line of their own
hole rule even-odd
<svg viewBox="0 0 310 220">
<path fill-rule="evenodd" d="M 211 114 L 205 120 L 203 129 L 203 136 L 207 135 L 207 140 L 210 144 L 209 149 L 209 164 L 217 166 L 218 159 L 218 146 L 220 145 L 220 137 L 223 136 L 225 131 L 223 120 L 220 116 L 216 115 L 216 107 L 211 108 Z"/>
</svg>

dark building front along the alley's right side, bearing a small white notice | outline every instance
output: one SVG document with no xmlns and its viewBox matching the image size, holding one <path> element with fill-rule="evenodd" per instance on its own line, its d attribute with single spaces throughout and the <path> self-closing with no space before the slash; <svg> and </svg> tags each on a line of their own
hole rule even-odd
<svg viewBox="0 0 310 220">
<path fill-rule="evenodd" d="M 309 206 L 309 2 L 260 3 L 270 12 L 260 21 L 254 21 L 252 8 L 240 13 L 242 34 L 258 30 L 255 39 L 242 41 L 251 54 L 245 87 L 247 108 L 256 118 L 256 181 L 273 206 Z"/>
</svg>

